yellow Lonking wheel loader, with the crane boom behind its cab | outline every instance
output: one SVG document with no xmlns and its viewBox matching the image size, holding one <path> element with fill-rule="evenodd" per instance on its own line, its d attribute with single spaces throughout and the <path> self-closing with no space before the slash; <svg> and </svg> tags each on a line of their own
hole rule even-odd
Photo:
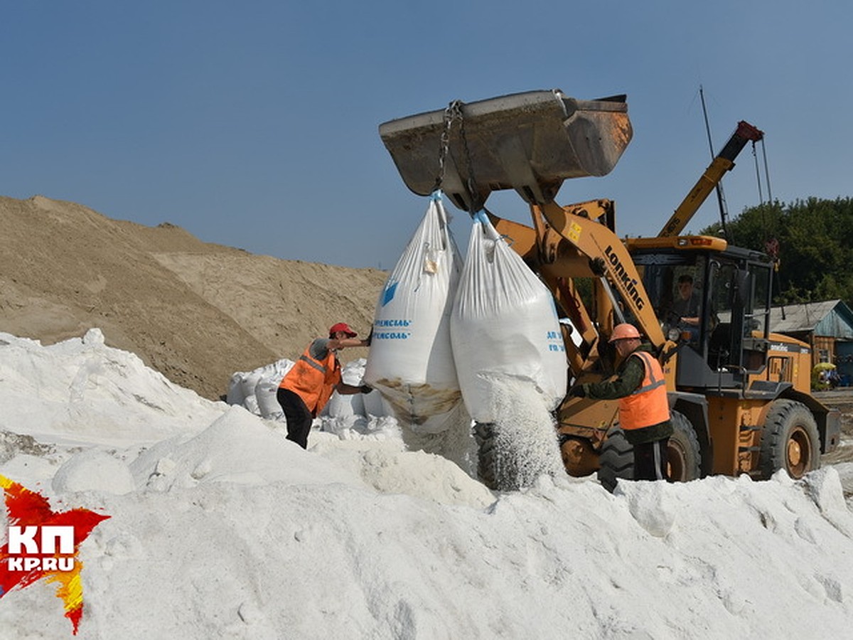
<svg viewBox="0 0 853 640">
<path fill-rule="evenodd" d="M 570 381 L 613 375 L 620 364 L 607 341 L 613 327 L 640 329 L 666 375 L 676 432 L 672 479 L 766 479 L 778 469 L 800 478 L 838 445 L 838 411 L 810 394 L 809 345 L 770 333 L 769 256 L 717 237 L 677 235 L 761 131 L 739 123 L 659 234 L 627 239 L 616 233 L 612 201 L 554 201 L 566 178 L 612 171 L 632 136 L 625 96 L 583 101 L 541 90 L 456 101 L 386 122 L 379 132 L 409 189 L 441 189 L 462 210 L 485 210 L 545 282 L 566 318 Z M 527 203 L 530 224 L 485 209 L 499 189 L 514 189 Z M 695 296 L 690 324 L 676 312 L 683 282 Z M 556 412 L 566 471 L 597 472 L 609 490 L 633 477 L 617 408 L 617 401 L 566 398 Z M 489 451 L 489 442 L 479 444 Z"/>
</svg>

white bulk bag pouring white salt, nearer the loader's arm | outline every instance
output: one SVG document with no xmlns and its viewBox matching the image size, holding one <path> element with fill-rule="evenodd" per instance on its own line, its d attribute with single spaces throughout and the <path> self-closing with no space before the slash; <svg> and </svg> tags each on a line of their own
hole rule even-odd
<svg viewBox="0 0 853 640">
<path fill-rule="evenodd" d="M 511 380 L 530 381 L 554 410 L 567 383 L 554 299 L 485 213 L 474 220 L 450 321 L 466 408 L 476 422 L 495 422 L 495 381 Z"/>
</svg>

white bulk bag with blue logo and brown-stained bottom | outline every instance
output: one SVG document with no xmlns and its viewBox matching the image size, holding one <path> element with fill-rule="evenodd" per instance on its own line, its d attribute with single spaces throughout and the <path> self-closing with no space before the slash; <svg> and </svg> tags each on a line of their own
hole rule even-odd
<svg viewBox="0 0 853 640">
<path fill-rule="evenodd" d="M 450 346 L 450 312 L 462 268 L 438 195 L 380 293 L 364 381 L 394 416 L 438 433 L 461 402 Z"/>
</svg>

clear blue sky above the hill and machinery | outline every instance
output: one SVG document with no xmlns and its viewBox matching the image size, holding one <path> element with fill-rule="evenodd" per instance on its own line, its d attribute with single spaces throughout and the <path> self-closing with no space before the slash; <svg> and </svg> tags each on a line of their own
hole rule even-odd
<svg viewBox="0 0 853 640">
<path fill-rule="evenodd" d="M 612 198 L 620 235 L 653 235 L 711 160 L 700 85 L 715 151 L 740 119 L 765 132 L 775 199 L 853 195 L 851 25 L 843 0 L 7 2 L 0 195 L 391 269 L 427 201 L 380 123 L 559 88 L 627 94 L 634 139 L 558 201 Z M 751 147 L 723 186 L 730 216 L 759 203 Z M 529 218 L 512 192 L 487 207 Z M 470 218 L 453 211 L 464 252 Z M 688 230 L 718 218 L 712 195 Z"/>
</svg>

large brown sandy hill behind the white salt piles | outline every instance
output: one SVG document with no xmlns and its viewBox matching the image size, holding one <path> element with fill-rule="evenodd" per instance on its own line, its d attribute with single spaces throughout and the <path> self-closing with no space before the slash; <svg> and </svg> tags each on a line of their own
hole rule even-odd
<svg viewBox="0 0 853 640">
<path fill-rule="evenodd" d="M 296 358 L 331 323 L 367 331 L 387 275 L 253 255 L 40 195 L 0 196 L 0 224 L 0 331 L 52 344 L 99 327 L 210 399 L 235 371 Z"/>
</svg>

